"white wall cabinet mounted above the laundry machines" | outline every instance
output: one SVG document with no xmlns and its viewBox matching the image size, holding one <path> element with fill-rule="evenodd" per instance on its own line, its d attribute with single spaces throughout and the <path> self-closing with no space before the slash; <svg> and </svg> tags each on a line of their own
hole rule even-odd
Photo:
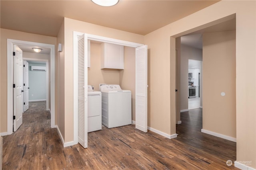
<svg viewBox="0 0 256 170">
<path fill-rule="evenodd" d="M 101 44 L 101 69 L 124 69 L 124 46 L 112 43 Z"/>
</svg>

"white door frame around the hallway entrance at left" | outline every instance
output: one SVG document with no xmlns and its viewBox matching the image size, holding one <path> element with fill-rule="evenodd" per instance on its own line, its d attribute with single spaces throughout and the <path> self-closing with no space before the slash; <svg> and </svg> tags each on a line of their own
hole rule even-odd
<svg viewBox="0 0 256 170">
<path fill-rule="evenodd" d="M 55 45 L 36 43 L 31 41 L 22 41 L 16 39 L 7 39 L 7 135 L 13 133 L 13 45 L 36 45 L 51 49 L 50 63 L 51 63 L 51 128 L 55 125 Z"/>
</svg>

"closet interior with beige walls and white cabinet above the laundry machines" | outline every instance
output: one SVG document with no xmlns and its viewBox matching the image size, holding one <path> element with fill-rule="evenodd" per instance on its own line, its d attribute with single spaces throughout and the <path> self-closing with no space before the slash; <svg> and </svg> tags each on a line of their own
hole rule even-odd
<svg viewBox="0 0 256 170">
<path fill-rule="evenodd" d="M 108 48 L 109 46 L 110 48 Z M 112 51 L 111 48 L 116 50 Z M 104 53 L 106 53 L 106 51 L 111 55 L 108 59 L 104 58 Z M 113 55 L 120 57 L 113 58 Z M 88 40 L 88 85 L 93 86 L 94 91 L 100 91 L 100 84 L 117 84 L 120 85 L 122 90 L 131 91 L 130 101 L 132 116 L 130 118 L 130 123 L 126 123 L 131 124 L 132 119 L 135 119 L 134 47 Z M 104 105 L 102 106 L 104 107 Z M 102 110 L 104 112 L 104 108 Z M 103 125 L 105 125 L 104 113 L 102 118 Z M 127 119 L 129 118 L 127 117 Z M 90 124 L 89 118 L 88 124 Z"/>
</svg>

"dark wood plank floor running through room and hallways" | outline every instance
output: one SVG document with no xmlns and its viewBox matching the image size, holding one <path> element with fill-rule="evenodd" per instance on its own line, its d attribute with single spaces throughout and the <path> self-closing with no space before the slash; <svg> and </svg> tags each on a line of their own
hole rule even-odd
<svg viewBox="0 0 256 170">
<path fill-rule="evenodd" d="M 10 169 L 236 169 L 226 160 L 236 160 L 236 143 L 201 133 L 202 110 L 181 113 L 176 139 L 134 125 L 104 128 L 88 134 L 88 149 L 79 144 L 62 147 L 56 129 L 50 128 L 50 113 L 44 102 L 30 103 L 23 124 L 3 139 L 3 166 Z"/>
</svg>

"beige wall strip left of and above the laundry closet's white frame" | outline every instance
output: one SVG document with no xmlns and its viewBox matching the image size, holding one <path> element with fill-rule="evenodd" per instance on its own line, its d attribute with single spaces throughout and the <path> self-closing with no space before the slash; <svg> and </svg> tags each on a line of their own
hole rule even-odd
<svg viewBox="0 0 256 170">
<path fill-rule="evenodd" d="M 65 118 L 65 138 L 64 141 L 73 141 L 73 31 L 89 33 L 94 35 L 100 35 L 103 37 L 110 37 L 114 39 L 121 39 L 124 41 L 131 41 L 135 43 L 143 43 L 144 36 L 94 25 L 82 21 L 72 20 L 64 18 L 64 41 L 65 41 L 65 57 L 64 57 L 64 112 L 61 112 L 60 116 Z M 63 124 L 63 123 L 62 123 Z M 63 126 L 64 126 L 63 125 Z"/>
</svg>

